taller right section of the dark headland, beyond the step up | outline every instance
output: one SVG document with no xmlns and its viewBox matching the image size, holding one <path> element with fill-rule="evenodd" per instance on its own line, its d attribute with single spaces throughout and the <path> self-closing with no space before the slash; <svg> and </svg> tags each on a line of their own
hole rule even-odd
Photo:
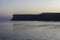
<svg viewBox="0 0 60 40">
<path fill-rule="evenodd" d="M 40 21 L 60 21 L 60 13 L 42 13 Z"/>
</svg>

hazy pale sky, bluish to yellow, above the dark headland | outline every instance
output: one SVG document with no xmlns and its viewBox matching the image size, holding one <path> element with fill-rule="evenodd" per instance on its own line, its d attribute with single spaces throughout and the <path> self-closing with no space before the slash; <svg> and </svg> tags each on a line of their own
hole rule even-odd
<svg viewBox="0 0 60 40">
<path fill-rule="evenodd" d="M 0 15 L 60 12 L 60 0 L 0 0 Z"/>
</svg>

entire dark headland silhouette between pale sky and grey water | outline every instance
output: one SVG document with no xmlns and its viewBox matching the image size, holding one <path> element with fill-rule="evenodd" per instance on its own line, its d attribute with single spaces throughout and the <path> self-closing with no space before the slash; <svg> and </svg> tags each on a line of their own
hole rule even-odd
<svg viewBox="0 0 60 40">
<path fill-rule="evenodd" d="M 13 21 L 60 21 L 60 13 L 14 14 Z"/>
</svg>

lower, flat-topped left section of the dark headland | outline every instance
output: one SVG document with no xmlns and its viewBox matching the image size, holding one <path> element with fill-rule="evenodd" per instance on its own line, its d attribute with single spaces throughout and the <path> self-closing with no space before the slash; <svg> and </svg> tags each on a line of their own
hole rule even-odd
<svg viewBox="0 0 60 40">
<path fill-rule="evenodd" d="M 38 21 L 39 15 L 33 14 L 14 14 L 13 21 Z"/>
</svg>

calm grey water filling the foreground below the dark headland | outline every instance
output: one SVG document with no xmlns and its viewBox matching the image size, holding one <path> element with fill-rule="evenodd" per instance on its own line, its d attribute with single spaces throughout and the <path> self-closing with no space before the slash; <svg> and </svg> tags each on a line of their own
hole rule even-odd
<svg viewBox="0 0 60 40">
<path fill-rule="evenodd" d="M 60 40 L 60 22 L 0 22 L 0 40 Z"/>
</svg>

